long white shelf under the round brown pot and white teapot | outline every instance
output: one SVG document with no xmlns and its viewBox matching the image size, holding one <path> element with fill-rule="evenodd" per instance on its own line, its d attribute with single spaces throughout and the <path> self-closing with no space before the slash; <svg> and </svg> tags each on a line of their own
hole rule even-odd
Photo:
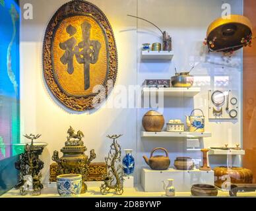
<svg viewBox="0 0 256 211">
<path fill-rule="evenodd" d="M 185 137 L 185 138 L 207 138 L 212 133 L 192 133 L 192 132 L 141 132 L 141 137 Z"/>
</svg>

